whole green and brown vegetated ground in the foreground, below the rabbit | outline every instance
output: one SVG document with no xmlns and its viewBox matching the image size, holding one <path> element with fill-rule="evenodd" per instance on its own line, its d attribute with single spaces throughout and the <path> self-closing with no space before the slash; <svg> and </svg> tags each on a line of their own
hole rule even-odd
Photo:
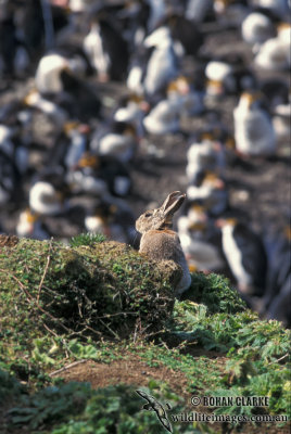
<svg viewBox="0 0 291 434">
<path fill-rule="evenodd" d="M 179 276 L 173 264 L 100 238 L 65 246 L 2 237 L 0 432 L 164 432 L 141 411 L 139 387 L 174 413 L 290 412 L 288 331 L 261 321 L 216 275 L 192 275 L 175 302 Z M 192 395 L 268 396 L 269 406 L 193 408 Z M 223 426 L 173 423 L 175 433 Z M 288 432 L 278 423 L 228 427 Z"/>
</svg>

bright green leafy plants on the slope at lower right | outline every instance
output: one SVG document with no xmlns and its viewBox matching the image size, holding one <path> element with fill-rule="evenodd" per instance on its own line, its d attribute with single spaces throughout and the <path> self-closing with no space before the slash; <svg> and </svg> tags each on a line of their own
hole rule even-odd
<svg viewBox="0 0 291 434">
<path fill-rule="evenodd" d="M 206 306 L 181 302 L 174 308 L 172 332 L 228 357 L 225 376 L 210 394 L 233 388 L 237 396 L 268 396 L 271 413 L 290 414 L 290 331 L 278 321 L 262 321 L 250 310 L 210 315 Z"/>
</svg>

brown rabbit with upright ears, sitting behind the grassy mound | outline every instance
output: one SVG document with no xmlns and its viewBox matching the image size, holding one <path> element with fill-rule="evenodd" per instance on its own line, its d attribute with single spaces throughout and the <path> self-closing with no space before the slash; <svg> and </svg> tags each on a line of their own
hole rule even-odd
<svg viewBox="0 0 291 434">
<path fill-rule="evenodd" d="M 139 252 L 155 260 L 174 260 L 182 269 L 182 277 L 175 289 L 180 296 L 191 284 L 191 276 L 184 255 L 180 240 L 173 230 L 174 213 L 180 208 L 186 194 L 180 191 L 170 193 L 157 209 L 143 213 L 136 221 L 136 229 L 141 233 Z"/>
</svg>

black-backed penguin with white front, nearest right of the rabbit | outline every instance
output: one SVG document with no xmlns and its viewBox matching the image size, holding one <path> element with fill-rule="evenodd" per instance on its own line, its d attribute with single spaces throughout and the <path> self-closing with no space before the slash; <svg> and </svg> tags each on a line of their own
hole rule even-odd
<svg viewBox="0 0 291 434">
<path fill-rule="evenodd" d="M 265 291 L 267 257 L 261 238 L 237 218 L 222 217 L 223 252 L 242 294 L 262 296 Z"/>
</svg>

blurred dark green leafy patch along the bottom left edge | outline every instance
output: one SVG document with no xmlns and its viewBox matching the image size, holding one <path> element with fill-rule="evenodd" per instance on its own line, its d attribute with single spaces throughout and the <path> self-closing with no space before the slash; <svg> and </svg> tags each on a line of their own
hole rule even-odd
<svg viewBox="0 0 291 434">
<path fill-rule="evenodd" d="M 181 411 L 180 398 L 163 384 L 150 382 L 142 390 L 169 403 L 172 411 Z M 25 425 L 31 434 L 43 425 L 51 426 L 45 431 L 51 434 L 163 433 L 155 414 L 142 410 L 143 405 L 132 386 L 121 384 L 93 391 L 88 383 L 71 382 L 23 397 L 22 405 L 9 411 L 8 427 Z M 173 432 L 193 433 L 186 424 L 175 424 Z"/>
</svg>

